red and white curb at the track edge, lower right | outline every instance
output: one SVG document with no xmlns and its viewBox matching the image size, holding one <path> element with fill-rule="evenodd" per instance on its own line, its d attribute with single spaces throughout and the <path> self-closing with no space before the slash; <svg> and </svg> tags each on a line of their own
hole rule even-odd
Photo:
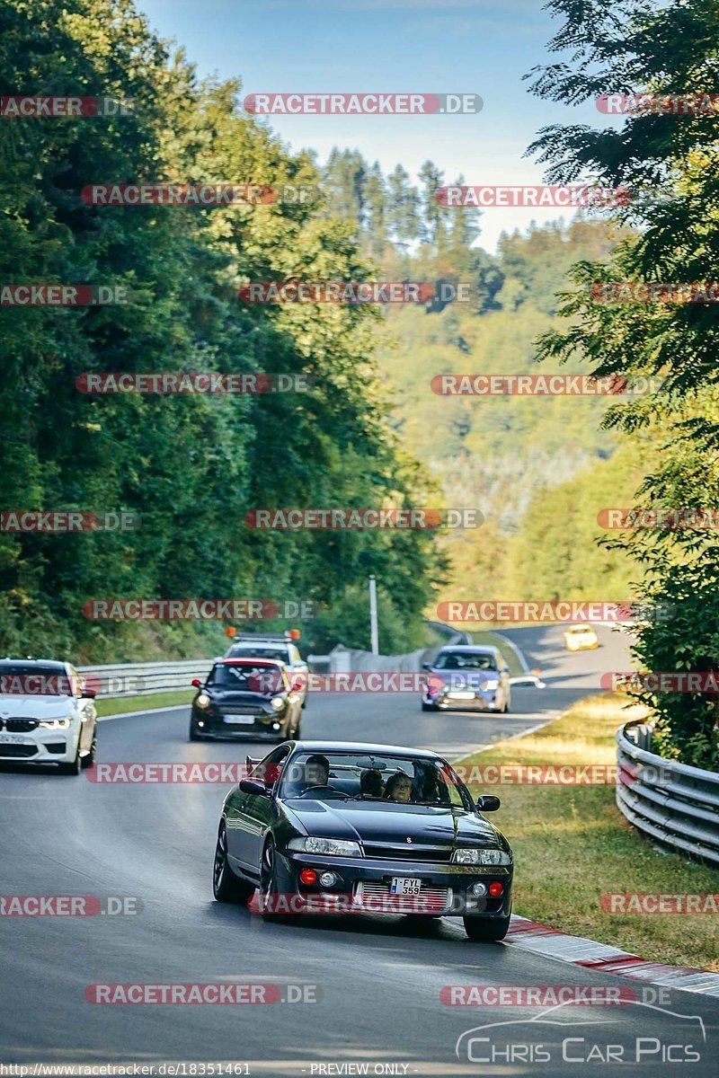
<svg viewBox="0 0 719 1078">
<path fill-rule="evenodd" d="M 689 966 L 665 966 L 661 962 L 647 962 L 609 943 L 596 943 L 581 936 L 569 936 L 567 932 L 561 932 L 556 928 L 549 928 L 537 921 L 528 921 L 515 914 L 512 915 L 504 942 L 523 951 L 543 954 L 548 958 L 596 969 L 600 973 L 613 973 L 618 977 L 628 977 L 634 981 L 719 997 L 719 973 L 713 973 L 707 969 L 692 969 Z"/>
</svg>

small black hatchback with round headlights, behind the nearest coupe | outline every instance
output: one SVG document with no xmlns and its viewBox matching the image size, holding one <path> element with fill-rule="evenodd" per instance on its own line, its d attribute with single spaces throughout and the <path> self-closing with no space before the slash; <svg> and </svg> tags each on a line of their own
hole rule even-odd
<svg viewBox="0 0 719 1078">
<path fill-rule="evenodd" d="M 300 736 L 302 697 L 285 664 L 272 659 L 219 659 L 203 685 L 192 682 L 190 741 L 236 737 L 253 741 Z"/>
</svg>

